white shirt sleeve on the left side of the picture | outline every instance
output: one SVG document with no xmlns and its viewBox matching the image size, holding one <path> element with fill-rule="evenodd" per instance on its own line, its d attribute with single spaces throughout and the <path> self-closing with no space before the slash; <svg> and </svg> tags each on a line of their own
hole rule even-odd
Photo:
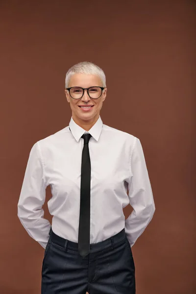
<svg viewBox="0 0 196 294">
<path fill-rule="evenodd" d="M 39 142 L 30 150 L 18 202 L 18 217 L 25 230 L 42 247 L 49 240 L 50 222 L 43 218 L 46 198 L 44 162 Z"/>
</svg>

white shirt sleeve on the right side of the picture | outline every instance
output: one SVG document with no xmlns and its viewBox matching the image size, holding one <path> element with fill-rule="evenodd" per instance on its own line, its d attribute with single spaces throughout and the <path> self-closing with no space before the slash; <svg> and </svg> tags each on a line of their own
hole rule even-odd
<svg viewBox="0 0 196 294">
<path fill-rule="evenodd" d="M 130 155 L 130 170 L 128 197 L 133 211 L 125 220 L 125 233 L 132 246 L 144 232 L 155 211 L 143 148 L 136 137 Z"/>
</svg>

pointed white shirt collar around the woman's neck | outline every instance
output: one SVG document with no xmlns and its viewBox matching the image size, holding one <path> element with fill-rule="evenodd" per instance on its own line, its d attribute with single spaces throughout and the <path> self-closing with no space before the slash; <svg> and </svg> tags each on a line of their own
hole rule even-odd
<svg viewBox="0 0 196 294">
<path fill-rule="evenodd" d="M 98 141 L 98 138 L 100 136 L 100 133 L 101 133 L 101 129 L 102 129 L 102 126 L 103 126 L 103 123 L 102 123 L 102 120 L 100 118 L 100 115 L 99 115 L 99 118 L 97 120 L 97 122 L 92 126 L 92 128 L 87 132 L 85 131 L 81 126 L 79 126 L 77 123 L 75 123 L 73 121 L 73 117 L 71 118 L 71 121 L 69 123 L 69 127 L 71 129 L 71 132 L 73 134 L 73 137 L 75 138 L 75 140 L 78 142 L 79 139 L 81 138 L 81 136 L 84 134 L 84 133 L 89 133 L 91 134 L 91 136 L 93 138 L 95 138 L 96 141 Z"/>
</svg>

